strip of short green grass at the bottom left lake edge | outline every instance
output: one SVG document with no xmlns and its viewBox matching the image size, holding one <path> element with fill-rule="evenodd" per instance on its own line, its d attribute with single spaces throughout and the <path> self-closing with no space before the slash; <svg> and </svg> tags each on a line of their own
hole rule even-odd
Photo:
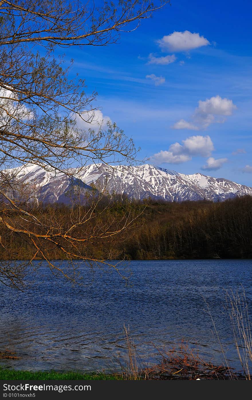
<svg viewBox="0 0 252 400">
<path fill-rule="evenodd" d="M 104 372 L 16 371 L 0 367 L 0 380 L 123 380 L 123 375 Z"/>
</svg>

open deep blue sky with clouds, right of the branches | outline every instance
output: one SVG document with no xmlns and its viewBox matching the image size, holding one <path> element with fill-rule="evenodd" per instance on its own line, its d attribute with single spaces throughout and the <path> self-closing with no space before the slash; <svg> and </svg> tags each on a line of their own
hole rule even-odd
<svg viewBox="0 0 252 400">
<path fill-rule="evenodd" d="M 251 12 L 250 1 L 173 0 L 117 44 L 67 50 L 71 72 L 139 159 L 252 186 Z"/>
</svg>

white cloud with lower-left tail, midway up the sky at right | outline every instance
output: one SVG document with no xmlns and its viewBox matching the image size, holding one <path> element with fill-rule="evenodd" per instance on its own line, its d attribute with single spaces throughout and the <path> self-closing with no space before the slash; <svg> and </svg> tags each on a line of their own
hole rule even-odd
<svg viewBox="0 0 252 400">
<path fill-rule="evenodd" d="M 230 116 L 236 110 L 236 106 L 227 98 L 213 96 L 205 101 L 200 100 L 198 107 L 191 116 L 192 122 L 179 120 L 171 128 L 173 129 L 191 129 L 199 130 L 206 129 L 213 122 L 223 123 L 225 119 L 216 118 L 220 116 Z"/>
</svg>

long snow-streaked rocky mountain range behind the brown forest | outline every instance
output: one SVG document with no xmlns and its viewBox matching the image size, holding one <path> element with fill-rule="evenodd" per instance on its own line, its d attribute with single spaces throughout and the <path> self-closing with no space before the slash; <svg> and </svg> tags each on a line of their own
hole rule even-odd
<svg viewBox="0 0 252 400">
<path fill-rule="evenodd" d="M 6 170 L 7 171 L 7 170 Z M 224 178 L 212 178 L 200 173 L 180 174 L 150 164 L 141 166 L 113 166 L 91 164 L 81 172 L 72 170 L 73 176 L 55 170 L 47 171 L 33 164 L 8 170 L 19 181 L 33 188 L 38 200 L 43 202 L 69 202 L 69 193 L 75 187 L 84 193 L 94 184 L 112 194 L 126 194 L 129 198 L 168 201 L 202 200 L 222 201 L 250 194 L 252 188 Z"/>
</svg>

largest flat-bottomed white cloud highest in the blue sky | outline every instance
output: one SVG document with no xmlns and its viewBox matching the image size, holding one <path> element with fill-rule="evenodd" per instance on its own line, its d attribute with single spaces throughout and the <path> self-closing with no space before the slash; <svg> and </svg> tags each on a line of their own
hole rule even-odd
<svg viewBox="0 0 252 400">
<path fill-rule="evenodd" d="M 204 36 L 189 32 L 189 30 L 173 32 L 170 35 L 163 36 L 157 42 L 163 51 L 169 52 L 189 51 L 210 44 Z"/>
</svg>

